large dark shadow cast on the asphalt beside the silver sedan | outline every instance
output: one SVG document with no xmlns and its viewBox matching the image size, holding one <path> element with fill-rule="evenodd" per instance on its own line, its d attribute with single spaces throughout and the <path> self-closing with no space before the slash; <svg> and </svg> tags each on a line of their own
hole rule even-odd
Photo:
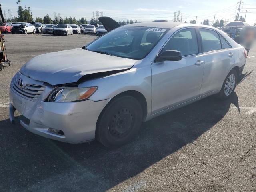
<svg viewBox="0 0 256 192">
<path fill-rule="evenodd" d="M 183 146 L 196 144 L 199 136 L 222 120 L 231 104 L 239 108 L 236 94 L 225 101 L 211 96 L 158 116 L 143 123 L 134 140 L 118 149 L 97 141 L 49 140 L 4 120 L 0 122 L 0 175 L 5 182 L 0 187 L 7 191 L 106 191 Z"/>
</svg>

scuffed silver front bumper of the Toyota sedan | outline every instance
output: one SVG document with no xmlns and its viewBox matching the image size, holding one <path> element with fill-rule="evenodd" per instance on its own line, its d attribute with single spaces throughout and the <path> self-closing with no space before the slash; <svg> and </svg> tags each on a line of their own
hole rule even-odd
<svg viewBox="0 0 256 192">
<path fill-rule="evenodd" d="M 94 140 L 98 117 L 110 99 L 94 102 L 30 101 L 10 88 L 10 121 L 14 123 L 15 110 L 22 116 L 20 124 L 34 134 L 68 143 Z M 52 132 L 60 130 L 61 134 Z"/>
</svg>

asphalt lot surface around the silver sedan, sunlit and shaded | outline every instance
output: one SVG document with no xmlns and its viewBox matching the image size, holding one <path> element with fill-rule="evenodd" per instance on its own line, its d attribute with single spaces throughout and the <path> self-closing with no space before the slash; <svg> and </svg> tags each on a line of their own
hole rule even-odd
<svg viewBox="0 0 256 192">
<path fill-rule="evenodd" d="M 94 38 L 5 36 L 12 65 L 0 71 L 0 191 L 256 192 L 256 49 L 232 98 L 209 97 L 154 118 L 119 149 L 56 142 L 10 124 L 8 89 L 20 67 Z"/>
</svg>

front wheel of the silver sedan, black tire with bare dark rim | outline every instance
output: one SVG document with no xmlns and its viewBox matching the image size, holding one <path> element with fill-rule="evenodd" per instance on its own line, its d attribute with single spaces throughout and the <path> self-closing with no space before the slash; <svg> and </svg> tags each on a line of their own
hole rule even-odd
<svg viewBox="0 0 256 192">
<path fill-rule="evenodd" d="M 96 139 L 108 148 L 120 147 L 134 137 L 142 123 L 142 107 L 132 96 L 111 101 L 96 126 Z"/>
</svg>

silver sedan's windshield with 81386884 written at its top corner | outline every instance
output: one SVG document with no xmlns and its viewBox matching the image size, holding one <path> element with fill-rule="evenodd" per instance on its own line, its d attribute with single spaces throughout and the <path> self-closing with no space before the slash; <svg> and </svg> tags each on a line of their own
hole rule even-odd
<svg viewBox="0 0 256 192">
<path fill-rule="evenodd" d="M 86 48 L 89 51 L 139 60 L 156 46 L 167 31 L 162 28 L 123 26 L 98 38 Z"/>
</svg>

